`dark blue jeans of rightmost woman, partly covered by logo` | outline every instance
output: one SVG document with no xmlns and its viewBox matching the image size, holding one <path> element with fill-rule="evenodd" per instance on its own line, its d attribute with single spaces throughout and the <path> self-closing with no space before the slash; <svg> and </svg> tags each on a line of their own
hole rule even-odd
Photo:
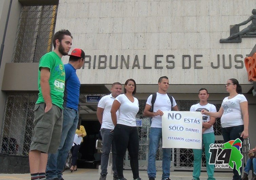
<svg viewBox="0 0 256 180">
<path fill-rule="evenodd" d="M 243 125 L 239 126 L 231 126 L 231 127 L 222 127 L 222 136 L 224 139 L 224 143 L 229 142 L 230 140 L 236 140 L 239 138 L 243 142 L 243 138 L 240 137 L 239 133 L 243 132 Z M 242 148 L 240 149 L 242 153 Z M 242 167 L 240 167 L 240 173 L 242 173 Z M 236 164 L 233 168 L 233 180 L 241 180 L 241 175 L 236 170 Z"/>
</svg>

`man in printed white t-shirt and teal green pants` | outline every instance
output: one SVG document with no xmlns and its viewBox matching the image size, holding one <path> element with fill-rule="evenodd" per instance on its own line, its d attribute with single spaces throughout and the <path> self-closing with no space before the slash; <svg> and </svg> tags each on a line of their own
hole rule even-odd
<svg viewBox="0 0 256 180">
<path fill-rule="evenodd" d="M 209 112 L 216 112 L 216 107 L 213 104 L 207 102 L 209 97 L 208 91 L 205 88 L 201 88 L 198 92 L 198 97 L 200 102 L 191 106 L 190 111 L 201 112 L 202 109 L 205 109 Z M 215 118 L 207 115 L 203 115 L 203 127 L 202 127 L 202 140 L 205 149 L 205 158 L 206 158 L 206 171 L 208 174 L 207 180 L 215 180 L 214 178 L 214 164 L 209 164 L 210 160 L 210 144 L 213 144 L 215 141 L 213 124 L 215 123 Z M 200 180 L 199 176 L 201 173 L 201 161 L 202 161 L 202 149 L 193 149 L 194 153 L 194 170 L 193 170 L 193 179 Z"/>
</svg>

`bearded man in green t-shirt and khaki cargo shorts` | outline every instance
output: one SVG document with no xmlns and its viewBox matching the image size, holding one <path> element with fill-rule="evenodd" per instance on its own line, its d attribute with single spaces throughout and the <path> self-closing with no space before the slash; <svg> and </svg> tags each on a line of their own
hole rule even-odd
<svg viewBox="0 0 256 180">
<path fill-rule="evenodd" d="M 65 86 L 65 69 L 61 58 L 68 55 L 72 39 L 71 33 L 66 29 L 55 33 L 54 51 L 43 55 L 39 62 L 39 94 L 34 109 L 35 127 L 29 150 L 32 180 L 45 179 L 47 153 L 56 153 L 60 144 Z"/>
</svg>

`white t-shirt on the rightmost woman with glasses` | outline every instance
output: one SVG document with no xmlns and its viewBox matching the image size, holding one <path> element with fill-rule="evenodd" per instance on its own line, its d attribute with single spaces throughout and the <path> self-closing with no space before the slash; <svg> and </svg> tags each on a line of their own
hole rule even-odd
<svg viewBox="0 0 256 180">
<path fill-rule="evenodd" d="M 220 119 L 221 127 L 243 125 L 240 103 L 245 101 L 247 100 L 242 94 L 238 94 L 231 99 L 228 99 L 228 97 L 223 99 L 221 107 L 224 112 Z"/>
</svg>

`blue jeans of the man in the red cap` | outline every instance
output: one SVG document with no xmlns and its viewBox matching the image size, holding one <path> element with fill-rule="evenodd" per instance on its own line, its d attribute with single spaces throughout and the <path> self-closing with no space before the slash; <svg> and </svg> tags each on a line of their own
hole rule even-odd
<svg viewBox="0 0 256 180">
<path fill-rule="evenodd" d="M 73 145 L 77 124 L 78 111 L 64 107 L 60 145 L 57 153 L 48 154 L 46 179 L 62 178 L 62 171 L 65 166 L 67 154 Z"/>
</svg>

